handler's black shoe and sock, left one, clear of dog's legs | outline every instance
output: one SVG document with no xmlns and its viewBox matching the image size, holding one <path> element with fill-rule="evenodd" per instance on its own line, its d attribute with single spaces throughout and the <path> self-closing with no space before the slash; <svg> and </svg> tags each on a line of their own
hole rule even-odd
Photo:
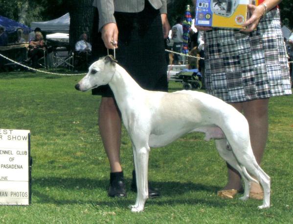
<svg viewBox="0 0 293 224">
<path fill-rule="evenodd" d="M 126 197 L 123 172 L 110 173 L 110 184 L 108 189 L 109 197 Z"/>
</svg>

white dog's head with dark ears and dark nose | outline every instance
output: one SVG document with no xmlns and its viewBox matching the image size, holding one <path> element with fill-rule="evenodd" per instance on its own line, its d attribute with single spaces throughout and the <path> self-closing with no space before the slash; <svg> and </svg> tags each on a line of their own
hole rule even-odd
<svg viewBox="0 0 293 224">
<path fill-rule="evenodd" d="M 75 85 L 75 89 L 88 91 L 108 84 L 114 75 L 116 62 L 112 55 L 107 55 L 92 63 L 88 74 Z"/>
</svg>

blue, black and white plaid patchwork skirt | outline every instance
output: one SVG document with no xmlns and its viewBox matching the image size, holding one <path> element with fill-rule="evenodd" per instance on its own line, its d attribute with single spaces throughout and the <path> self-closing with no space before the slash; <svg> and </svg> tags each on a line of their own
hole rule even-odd
<svg viewBox="0 0 293 224">
<path fill-rule="evenodd" d="M 250 33 L 214 28 L 204 38 L 208 94 L 228 103 L 292 94 L 279 9 Z"/>
</svg>

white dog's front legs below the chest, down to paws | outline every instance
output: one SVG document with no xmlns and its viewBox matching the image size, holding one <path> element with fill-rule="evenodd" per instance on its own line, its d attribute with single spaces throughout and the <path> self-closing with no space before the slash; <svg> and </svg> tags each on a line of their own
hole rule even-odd
<svg viewBox="0 0 293 224">
<path fill-rule="evenodd" d="M 136 148 L 133 146 L 135 176 L 137 196 L 134 205 L 131 205 L 132 212 L 141 212 L 144 209 L 144 203 L 148 198 L 148 161 L 149 161 L 148 146 Z"/>
</svg>

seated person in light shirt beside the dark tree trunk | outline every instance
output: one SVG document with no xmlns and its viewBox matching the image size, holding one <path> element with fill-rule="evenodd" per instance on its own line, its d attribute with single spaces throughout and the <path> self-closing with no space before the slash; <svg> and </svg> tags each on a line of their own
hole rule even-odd
<svg viewBox="0 0 293 224">
<path fill-rule="evenodd" d="M 75 44 L 75 51 L 78 55 L 77 61 L 76 61 L 76 67 L 77 69 L 86 69 L 89 60 L 89 56 L 91 53 L 91 45 L 88 40 L 88 35 L 86 33 L 83 33 L 79 41 Z"/>
</svg>

